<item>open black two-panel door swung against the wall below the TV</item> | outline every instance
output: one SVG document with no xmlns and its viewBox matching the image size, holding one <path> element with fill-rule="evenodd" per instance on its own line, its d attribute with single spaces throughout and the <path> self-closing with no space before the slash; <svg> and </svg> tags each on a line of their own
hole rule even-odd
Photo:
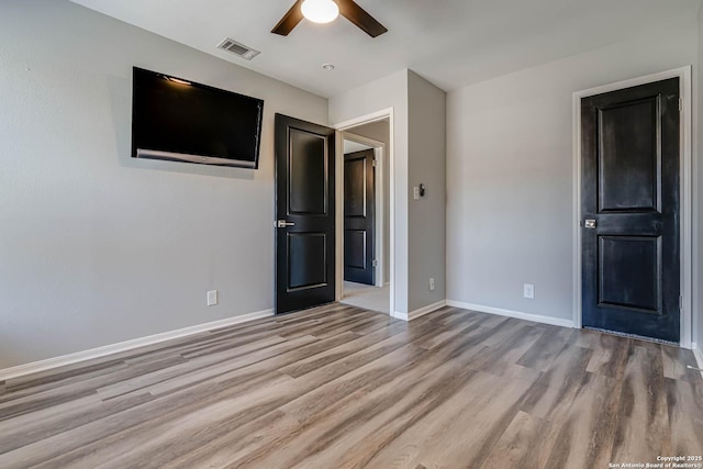
<svg viewBox="0 0 703 469">
<path fill-rule="evenodd" d="M 276 312 L 335 300 L 334 131 L 276 114 Z"/>
</svg>

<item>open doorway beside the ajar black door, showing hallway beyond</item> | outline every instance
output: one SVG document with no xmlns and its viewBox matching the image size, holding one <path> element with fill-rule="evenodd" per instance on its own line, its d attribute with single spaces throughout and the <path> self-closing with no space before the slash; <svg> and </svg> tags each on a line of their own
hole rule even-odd
<svg viewBox="0 0 703 469">
<path fill-rule="evenodd" d="M 392 115 L 386 111 L 337 130 L 337 299 L 390 315 Z"/>
</svg>

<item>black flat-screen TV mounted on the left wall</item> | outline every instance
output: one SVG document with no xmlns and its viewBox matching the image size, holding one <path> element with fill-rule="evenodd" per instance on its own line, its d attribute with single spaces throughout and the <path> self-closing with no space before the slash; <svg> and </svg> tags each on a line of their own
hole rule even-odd
<svg viewBox="0 0 703 469">
<path fill-rule="evenodd" d="M 134 67 L 132 156 L 258 168 L 264 101 Z"/>
</svg>

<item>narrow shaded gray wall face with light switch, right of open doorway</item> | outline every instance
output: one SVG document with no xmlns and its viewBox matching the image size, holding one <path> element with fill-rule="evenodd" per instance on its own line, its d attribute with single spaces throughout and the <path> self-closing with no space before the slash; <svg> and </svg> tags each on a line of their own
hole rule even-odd
<svg viewBox="0 0 703 469">
<path fill-rule="evenodd" d="M 408 75 L 409 186 L 424 183 L 426 196 L 409 204 L 409 311 L 446 297 L 446 93 Z M 435 290 L 429 291 L 429 278 Z"/>
</svg>

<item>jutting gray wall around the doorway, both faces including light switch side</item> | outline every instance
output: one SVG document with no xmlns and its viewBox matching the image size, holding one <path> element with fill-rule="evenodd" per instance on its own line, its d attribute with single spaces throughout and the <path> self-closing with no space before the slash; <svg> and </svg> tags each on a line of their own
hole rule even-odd
<svg viewBox="0 0 703 469">
<path fill-rule="evenodd" d="M 330 122 L 338 124 L 393 108 L 395 192 L 395 312 L 408 314 L 444 300 L 446 96 L 402 70 L 330 99 Z M 427 185 L 414 201 L 413 186 Z M 428 279 L 434 277 L 435 291 Z"/>
</svg>

